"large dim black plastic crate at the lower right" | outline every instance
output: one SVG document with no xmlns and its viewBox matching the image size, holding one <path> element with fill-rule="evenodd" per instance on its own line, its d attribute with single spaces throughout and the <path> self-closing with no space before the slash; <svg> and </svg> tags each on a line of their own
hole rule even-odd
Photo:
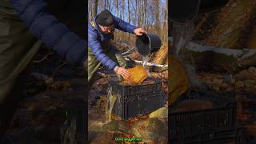
<svg viewBox="0 0 256 144">
<path fill-rule="evenodd" d="M 185 99 L 210 100 L 213 109 L 191 110 L 172 113 L 172 108 Z M 209 143 L 238 138 L 237 102 L 233 98 L 222 97 L 206 91 L 191 90 L 172 104 L 169 110 L 169 141 L 171 143 Z M 207 142 L 206 142 L 207 141 Z"/>
</svg>

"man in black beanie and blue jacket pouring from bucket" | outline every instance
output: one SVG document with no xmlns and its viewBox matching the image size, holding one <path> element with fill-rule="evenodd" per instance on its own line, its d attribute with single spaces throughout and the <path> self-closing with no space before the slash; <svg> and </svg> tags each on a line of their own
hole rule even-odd
<svg viewBox="0 0 256 144">
<path fill-rule="evenodd" d="M 114 30 L 122 30 L 136 35 L 146 33 L 146 30 L 132 26 L 115 17 L 109 10 L 103 10 L 93 22 L 88 24 L 88 81 L 91 86 L 95 72 L 103 64 L 109 70 L 114 70 L 119 78 L 130 76 L 126 70 L 126 60 L 113 45 Z M 120 77 L 122 76 L 122 77 Z"/>
</svg>

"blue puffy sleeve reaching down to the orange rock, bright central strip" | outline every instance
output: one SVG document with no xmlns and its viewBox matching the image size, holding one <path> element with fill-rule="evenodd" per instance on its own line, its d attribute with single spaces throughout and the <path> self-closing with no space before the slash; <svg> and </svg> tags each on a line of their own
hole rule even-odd
<svg viewBox="0 0 256 144">
<path fill-rule="evenodd" d="M 90 46 L 90 50 L 93 51 L 98 61 L 102 62 L 104 66 L 107 66 L 109 70 L 114 70 L 114 67 L 117 66 L 117 63 L 103 53 L 102 46 L 98 42 L 97 32 L 91 30 L 90 25 L 88 26 L 88 44 Z"/>
</svg>

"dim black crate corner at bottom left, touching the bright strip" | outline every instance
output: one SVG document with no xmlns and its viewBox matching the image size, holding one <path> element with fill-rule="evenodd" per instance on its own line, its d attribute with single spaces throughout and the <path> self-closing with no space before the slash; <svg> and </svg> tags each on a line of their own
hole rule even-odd
<svg viewBox="0 0 256 144">
<path fill-rule="evenodd" d="M 62 128 L 62 143 L 65 139 L 66 130 L 72 130 L 72 126 L 75 126 L 76 143 L 85 143 L 87 131 L 86 102 L 82 98 L 76 98 L 67 99 L 65 103 L 66 123 Z"/>
</svg>

